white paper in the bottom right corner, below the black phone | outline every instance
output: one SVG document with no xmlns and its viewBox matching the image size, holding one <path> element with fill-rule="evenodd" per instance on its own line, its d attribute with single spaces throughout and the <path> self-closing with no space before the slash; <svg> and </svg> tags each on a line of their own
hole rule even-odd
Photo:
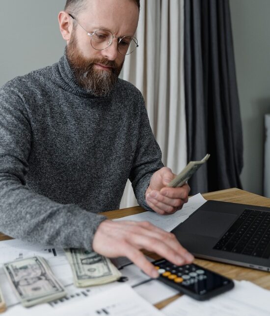
<svg viewBox="0 0 270 316">
<path fill-rule="evenodd" d="M 269 316 L 270 291 L 247 281 L 234 281 L 235 287 L 208 301 L 183 295 L 162 309 L 167 316 Z"/>
</svg>

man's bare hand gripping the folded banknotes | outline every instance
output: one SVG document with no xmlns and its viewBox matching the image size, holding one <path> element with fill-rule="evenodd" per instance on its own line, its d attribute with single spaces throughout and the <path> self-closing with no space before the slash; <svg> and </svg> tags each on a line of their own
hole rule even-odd
<svg viewBox="0 0 270 316">
<path fill-rule="evenodd" d="M 147 204 L 159 214 L 172 214 L 189 200 L 190 188 L 187 183 L 178 188 L 167 187 L 175 176 L 169 168 L 163 167 L 151 177 L 145 199 Z"/>
</svg>

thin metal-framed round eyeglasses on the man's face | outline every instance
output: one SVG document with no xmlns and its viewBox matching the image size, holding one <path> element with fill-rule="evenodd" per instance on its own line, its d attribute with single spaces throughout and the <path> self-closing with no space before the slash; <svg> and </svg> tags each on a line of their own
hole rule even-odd
<svg viewBox="0 0 270 316">
<path fill-rule="evenodd" d="M 70 13 L 68 14 L 82 29 L 84 29 Z M 108 29 L 99 29 L 94 32 L 88 32 L 86 29 L 84 30 L 87 32 L 87 35 L 91 37 L 91 46 L 97 51 L 103 51 L 108 48 L 111 45 L 113 38 L 117 38 L 117 50 L 122 55 L 130 55 L 139 46 L 138 41 L 134 36 L 126 35 L 117 37 Z"/>
</svg>

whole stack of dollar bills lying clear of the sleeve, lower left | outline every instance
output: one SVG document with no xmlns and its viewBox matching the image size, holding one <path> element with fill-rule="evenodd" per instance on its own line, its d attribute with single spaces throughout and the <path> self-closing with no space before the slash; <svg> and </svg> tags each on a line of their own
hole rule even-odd
<svg viewBox="0 0 270 316">
<path fill-rule="evenodd" d="M 4 271 L 23 306 L 53 301 L 66 295 L 45 259 L 32 257 L 4 264 Z"/>
</svg>

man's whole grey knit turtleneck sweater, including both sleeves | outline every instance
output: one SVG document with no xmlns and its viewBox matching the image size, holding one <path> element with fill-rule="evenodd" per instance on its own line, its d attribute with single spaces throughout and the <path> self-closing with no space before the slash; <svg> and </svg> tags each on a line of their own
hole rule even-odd
<svg viewBox="0 0 270 316">
<path fill-rule="evenodd" d="M 141 93 L 118 79 L 108 97 L 77 85 L 65 56 L 0 88 L 0 231 L 91 250 L 96 213 L 138 203 L 162 168 Z"/>
</svg>

